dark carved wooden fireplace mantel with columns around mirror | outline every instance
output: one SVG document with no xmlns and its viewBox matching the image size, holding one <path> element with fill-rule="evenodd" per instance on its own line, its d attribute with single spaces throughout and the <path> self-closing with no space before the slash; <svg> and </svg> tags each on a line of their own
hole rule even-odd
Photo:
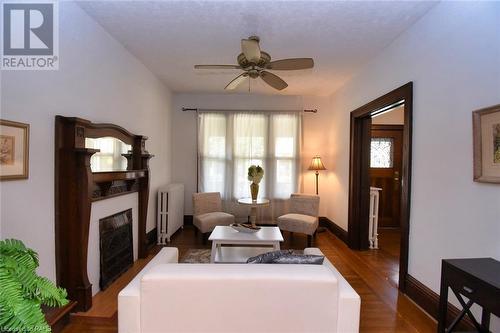
<svg viewBox="0 0 500 333">
<path fill-rule="evenodd" d="M 92 172 L 90 158 L 98 149 L 85 148 L 85 138 L 114 137 L 132 146 L 127 170 Z M 57 283 L 77 302 L 75 311 L 92 306 L 87 253 L 92 202 L 138 193 L 138 252 L 147 255 L 146 219 L 149 199 L 149 159 L 146 136 L 113 124 L 94 124 L 81 118 L 56 116 L 55 233 Z"/>
</svg>

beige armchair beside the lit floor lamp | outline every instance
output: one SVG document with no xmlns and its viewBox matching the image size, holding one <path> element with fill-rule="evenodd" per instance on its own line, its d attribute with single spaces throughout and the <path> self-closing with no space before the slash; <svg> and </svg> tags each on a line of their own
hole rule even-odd
<svg viewBox="0 0 500 333">
<path fill-rule="evenodd" d="M 278 227 L 281 230 L 306 234 L 307 246 L 310 247 L 318 228 L 318 215 L 319 196 L 292 194 L 290 213 L 278 217 Z"/>
</svg>

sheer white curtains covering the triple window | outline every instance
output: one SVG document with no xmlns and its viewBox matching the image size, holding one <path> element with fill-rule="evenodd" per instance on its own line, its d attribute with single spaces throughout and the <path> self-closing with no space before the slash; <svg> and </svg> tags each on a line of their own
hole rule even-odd
<svg viewBox="0 0 500 333">
<path fill-rule="evenodd" d="M 198 115 L 198 189 L 220 192 L 226 209 L 245 216 L 236 200 L 250 196 L 247 170 L 264 168 L 259 197 L 271 199 L 271 222 L 298 190 L 302 115 L 284 112 L 203 112 Z"/>
</svg>

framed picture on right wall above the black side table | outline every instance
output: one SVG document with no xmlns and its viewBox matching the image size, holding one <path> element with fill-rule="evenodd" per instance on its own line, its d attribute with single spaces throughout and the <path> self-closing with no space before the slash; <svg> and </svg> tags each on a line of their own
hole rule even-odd
<svg viewBox="0 0 500 333">
<path fill-rule="evenodd" d="M 500 184 L 500 104 L 472 113 L 474 181 Z"/>
</svg>

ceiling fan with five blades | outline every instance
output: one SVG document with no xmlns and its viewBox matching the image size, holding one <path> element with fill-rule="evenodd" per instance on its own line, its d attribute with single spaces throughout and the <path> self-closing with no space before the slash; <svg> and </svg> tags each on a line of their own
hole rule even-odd
<svg viewBox="0 0 500 333">
<path fill-rule="evenodd" d="M 283 90 L 288 84 L 279 76 L 269 70 L 298 70 L 308 69 L 314 66 L 312 58 L 290 58 L 271 61 L 269 53 L 261 51 L 260 38 L 250 36 L 241 40 L 241 51 L 237 57 L 238 65 L 195 65 L 195 69 L 241 69 L 243 73 L 234 78 L 224 88 L 234 90 L 247 78 L 256 79 L 260 77 L 264 82 L 277 90 Z"/>
</svg>

